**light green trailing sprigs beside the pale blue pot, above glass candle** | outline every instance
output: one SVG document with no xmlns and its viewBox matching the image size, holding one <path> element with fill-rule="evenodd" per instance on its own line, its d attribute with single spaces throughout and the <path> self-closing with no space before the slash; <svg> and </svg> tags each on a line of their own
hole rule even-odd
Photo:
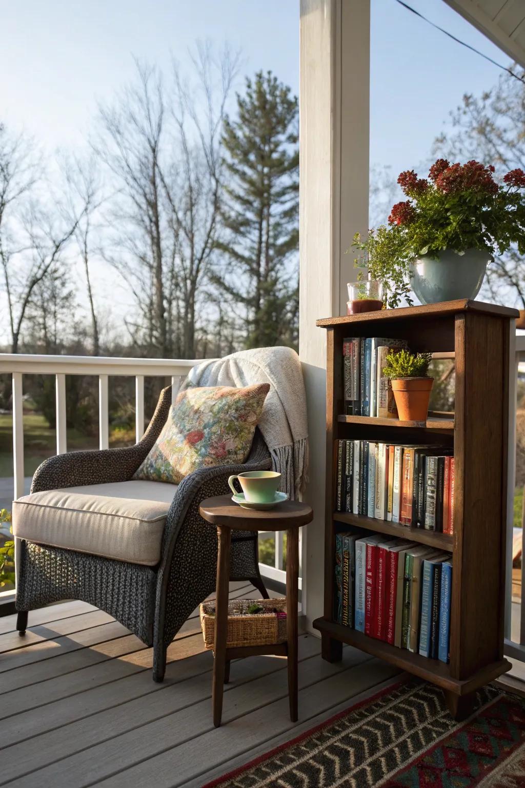
<svg viewBox="0 0 525 788">
<path fill-rule="evenodd" d="M 360 251 L 354 265 L 366 269 L 372 279 L 383 282 L 383 301 L 386 307 L 394 309 L 405 299 L 412 304 L 410 298 L 409 261 L 405 255 L 404 240 L 399 228 L 387 228 L 381 225 L 378 229 L 368 230 L 368 236 L 362 238 L 359 232 L 353 236 L 352 246 Z"/>
</svg>

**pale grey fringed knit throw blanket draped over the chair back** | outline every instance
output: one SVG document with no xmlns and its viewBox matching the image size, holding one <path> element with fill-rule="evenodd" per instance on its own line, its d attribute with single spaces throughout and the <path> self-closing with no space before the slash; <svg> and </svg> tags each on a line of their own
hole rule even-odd
<svg viewBox="0 0 525 788">
<path fill-rule="evenodd" d="M 270 384 L 258 426 L 272 468 L 283 474 L 281 489 L 290 500 L 301 500 L 308 474 L 308 422 L 301 362 L 294 350 L 257 348 L 203 361 L 190 370 L 183 388 L 257 383 Z"/>
</svg>

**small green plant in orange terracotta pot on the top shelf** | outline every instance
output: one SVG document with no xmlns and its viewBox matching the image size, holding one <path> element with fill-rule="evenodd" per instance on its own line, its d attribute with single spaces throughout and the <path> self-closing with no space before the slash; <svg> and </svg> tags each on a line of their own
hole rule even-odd
<svg viewBox="0 0 525 788">
<path fill-rule="evenodd" d="M 390 377 L 401 422 L 424 422 L 434 378 L 428 376 L 431 353 L 390 352 L 383 374 Z"/>
</svg>

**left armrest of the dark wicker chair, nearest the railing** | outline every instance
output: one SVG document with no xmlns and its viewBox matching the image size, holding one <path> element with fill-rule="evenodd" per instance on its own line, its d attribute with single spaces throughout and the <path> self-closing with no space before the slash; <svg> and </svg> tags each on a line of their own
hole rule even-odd
<svg viewBox="0 0 525 788">
<path fill-rule="evenodd" d="M 135 446 L 68 452 L 44 460 L 35 471 L 31 492 L 129 481 L 161 433 L 171 402 L 172 387 L 168 386 L 161 391 L 150 425 Z"/>
</svg>

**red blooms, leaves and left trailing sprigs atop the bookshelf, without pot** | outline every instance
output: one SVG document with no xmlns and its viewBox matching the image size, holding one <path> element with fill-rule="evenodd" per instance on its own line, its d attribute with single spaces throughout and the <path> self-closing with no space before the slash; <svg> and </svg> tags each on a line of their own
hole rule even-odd
<svg viewBox="0 0 525 788">
<path fill-rule="evenodd" d="M 445 158 L 434 162 L 427 178 L 413 169 L 400 174 L 397 183 L 408 199 L 392 207 L 388 226 L 353 238 L 360 251 L 355 265 L 383 282 L 386 306 L 397 307 L 402 298 L 412 303 L 411 266 L 421 255 L 437 259 L 445 249 L 460 255 L 480 249 L 492 258 L 511 244 L 525 254 L 525 173 L 512 169 L 502 181 L 494 180 L 492 165 Z"/>
</svg>

